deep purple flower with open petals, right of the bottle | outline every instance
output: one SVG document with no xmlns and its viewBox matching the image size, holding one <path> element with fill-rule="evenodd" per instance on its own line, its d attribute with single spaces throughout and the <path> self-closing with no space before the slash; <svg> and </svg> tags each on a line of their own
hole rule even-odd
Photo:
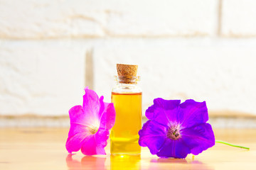
<svg viewBox="0 0 256 170">
<path fill-rule="evenodd" d="M 149 120 L 139 130 L 139 145 L 149 147 L 158 157 L 185 158 L 215 145 L 213 129 L 206 123 L 205 101 L 155 98 L 146 118 Z"/>
</svg>

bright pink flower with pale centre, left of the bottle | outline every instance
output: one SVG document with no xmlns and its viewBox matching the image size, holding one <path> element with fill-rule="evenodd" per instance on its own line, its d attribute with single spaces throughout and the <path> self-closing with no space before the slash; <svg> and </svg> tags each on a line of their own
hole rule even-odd
<svg viewBox="0 0 256 170">
<path fill-rule="evenodd" d="M 70 108 L 70 131 L 66 149 L 70 154 L 78 152 L 83 154 L 106 154 L 104 147 L 110 136 L 109 130 L 115 121 L 113 103 L 103 102 L 103 96 L 99 97 L 85 88 L 82 106 Z"/>
</svg>

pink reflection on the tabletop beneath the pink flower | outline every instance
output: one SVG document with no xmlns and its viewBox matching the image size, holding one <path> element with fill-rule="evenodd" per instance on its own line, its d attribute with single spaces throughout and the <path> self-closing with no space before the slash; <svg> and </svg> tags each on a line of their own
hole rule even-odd
<svg viewBox="0 0 256 170">
<path fill-rule="evenodd" d="M 104 170 L 105 168 L 105 157 L 82 157 L 81 161 L 72 158 L 72 154 L 68 154 L 66 163 L 69 170 L 75 169 L 93 169 L 93 170 Z"/>
</svg>

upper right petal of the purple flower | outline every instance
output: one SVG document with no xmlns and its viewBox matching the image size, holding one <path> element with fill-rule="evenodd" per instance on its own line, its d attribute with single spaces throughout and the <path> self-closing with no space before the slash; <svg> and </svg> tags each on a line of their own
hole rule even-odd
<svg viewBox="0 0 256 170">
<path fill-rule="evenodd" d="M 181 124 L 181 128 L 189 128 L 196 124 L 206 123 L 208 121 L 206 102 L 196 102 L 190 99 L 181 103 L 178 111 L 178 121 Z"/>
</svg>

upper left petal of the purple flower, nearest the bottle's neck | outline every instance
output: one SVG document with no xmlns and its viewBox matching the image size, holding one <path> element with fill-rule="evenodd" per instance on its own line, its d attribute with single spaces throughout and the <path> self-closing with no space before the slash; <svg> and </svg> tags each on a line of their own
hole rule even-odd
<svg viewBox="0 0 256 170">
<path fill-rule="evenodd" d="M 169 126 L 177 117 L 179 100 L 164 100 L 163 98 L 155 98 L 154 105 L 146 110 L 146 118 L 154 120 L 161 125 Z"/>
</svg>

